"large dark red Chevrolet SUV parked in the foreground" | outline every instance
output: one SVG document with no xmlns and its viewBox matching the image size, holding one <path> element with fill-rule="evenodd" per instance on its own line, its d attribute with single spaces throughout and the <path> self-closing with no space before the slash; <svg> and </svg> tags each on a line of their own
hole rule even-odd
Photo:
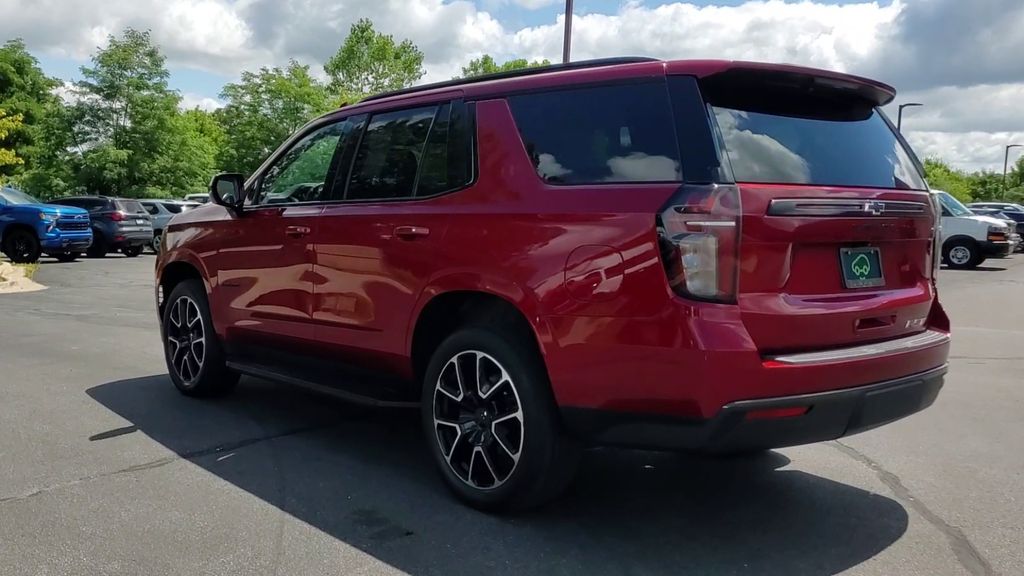
<svg viewBox="0 0 1024 576">
<path fill-rule="evenodd" d="M 929 406 L 936 204 L 890 86 L 624 58 L 318 118 L 157 262 L 189 396 L 240 374 L 418 407 L 447 485 L 544 501 L 587 445 L 750 452 Z"/>
</svg>

